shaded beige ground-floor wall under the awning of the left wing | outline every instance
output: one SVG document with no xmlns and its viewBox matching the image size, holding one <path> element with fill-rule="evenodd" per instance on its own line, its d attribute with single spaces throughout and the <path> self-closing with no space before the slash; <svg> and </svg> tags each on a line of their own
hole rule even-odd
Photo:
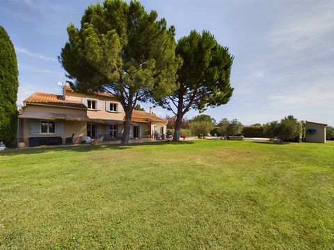
<svg viewBox="0 0 334 250">
<path fill-rule="evenodd" d="M 22 118 L 21 118 L 22 119 Z M 23 137 L 23 142 L 26 144 L 26 146 L 29 146 L 29 138 L 31 137 L 46 137 L 46 136 L 61 136 L 63 139 L 63 144 L 65 143 L 65 138 L 72 137 L 72 134 L 74 133 L 73 142 L 77 143 L 79 142 L 79 136 L 86 135 L 87 133 L 87 123 L 86 122 L 77 122 L 77 121 L 62 121 L 64 122 L 64 133 L 58 134 L 58 133 L 34 133 L 31 134 L 29 132 L 30 127 L 30 121 L 32 119 L 22 119 L 23 120 L 23 128 L 21 127 L 20 130 Z M 34 119 L 37 120 L 37 119 Z M 42 122 L 42 120 L 39 120 L 39 122 Z M 45 119 L 43 119 L 45 121 Z M 57 122 L 57 121 L 53 121 Z"/>
</svg>

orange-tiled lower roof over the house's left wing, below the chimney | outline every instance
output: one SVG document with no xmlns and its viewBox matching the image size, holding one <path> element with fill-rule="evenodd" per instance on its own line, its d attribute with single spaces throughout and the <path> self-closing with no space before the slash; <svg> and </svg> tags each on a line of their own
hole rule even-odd
<svg viewBox="0 0 334 250">
<path fill-rule="evenodd" d="M 24 103 L 31 103 L 31 104 L 42 104 L 42 105 L 49 105 L 49 106 L 61 106 L 67 108 L 84 108 L 86 106 L 84 103 L 80 101 L 73 101 L 73 100 L 64 100 L 63 96 L 56 95 L 56 94 L 46 94 L 36 92 L 31 94 L 30 97 L 23 101 Z"/>
</svg>

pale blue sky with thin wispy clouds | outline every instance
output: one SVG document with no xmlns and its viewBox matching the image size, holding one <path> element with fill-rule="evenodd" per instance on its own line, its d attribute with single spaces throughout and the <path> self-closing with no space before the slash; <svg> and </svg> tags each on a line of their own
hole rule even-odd
<svg viewBox="0 0 334 250">
<path fill-rule="evenodd" d="M 79 26 L 88 0 L 1 0 L 19 64 L 18 103 L 33 92 L 61 93 L 57 56 L 66 26 Z M 334 1 L 141 1 L 176 28 L 177 39 L 209 30 L 234 55 L 230 102 L 205 113 L 216 120 L 265 123 L 287 115 L 334 125 Z M 148 109 L 150 103 L 143 103 Z M 165 116 L 162 108 L 154 112 Z M 186 116 L 197 115 L 192 110 Z"/>
</svg>

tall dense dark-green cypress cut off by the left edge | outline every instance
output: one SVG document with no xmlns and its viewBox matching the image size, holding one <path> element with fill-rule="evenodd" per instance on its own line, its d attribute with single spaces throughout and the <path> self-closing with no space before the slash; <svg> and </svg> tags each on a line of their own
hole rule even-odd
<svg viewBox="0 0 334 250">
<path fill-rule="evenodd" d="M 17 128 L 17 59 L 13 43 L 0 26 L 0 141 L 13 146 Z"/>
</svg>

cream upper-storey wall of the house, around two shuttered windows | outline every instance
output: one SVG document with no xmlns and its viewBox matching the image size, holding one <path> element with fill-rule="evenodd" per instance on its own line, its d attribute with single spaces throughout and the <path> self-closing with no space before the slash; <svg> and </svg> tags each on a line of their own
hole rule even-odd
<svg viewBox="0 0 334 250">
<path fill-rule="evenodd" d="M 114 119 L 122 121 L 125 117 L 125 112 L 121 110 L 120 113 L 107 111 L 106 102 L 111 101 L 118 103 L 121 106 L 120 102 L 115 97 L 106 97 L 104 95 L 86 95 L 77 92 L 72 92 L 72 90 L 64 90 L 65 99 L 73 101 L 82 101 L 83 98 L 92 99 L 95 101 L 102 101 L 101 110 L 87 110 L 87 116 L 90 119 Z"/>
</svg>

